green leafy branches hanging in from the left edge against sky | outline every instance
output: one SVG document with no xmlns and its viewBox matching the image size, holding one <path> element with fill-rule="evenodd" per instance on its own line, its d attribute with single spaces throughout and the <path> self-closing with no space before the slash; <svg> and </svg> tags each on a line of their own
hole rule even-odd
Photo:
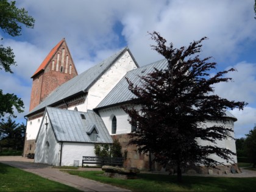
<svg viewBox="0 0 256 192">
<path fill-rule="evenodd" d="M 15 6 L 15 1 L 0 1 L 0 28 L 2 32 L 16 37 L 21 35 L 21 24 L 33 28 L 34 22 L 34 18 L 29 16 L 24 8 L 18 9 Z M 2 40 L 3 38 L 1 38 L 1 41 Z M 16 65 L 14 58 L 13 50 L 10 47 L 5 48 L 0 44 L 0 69 L 4 69 L 5 72 L 13 73 L 11 66 Z M 23 101 L 15 94 L 2 93 L 0 89 L 0 118 L 3 118 L 7 113 L 15 117 L 13 107 L 15 107 L 19 113 L 23 112 Z"/>
</svg>

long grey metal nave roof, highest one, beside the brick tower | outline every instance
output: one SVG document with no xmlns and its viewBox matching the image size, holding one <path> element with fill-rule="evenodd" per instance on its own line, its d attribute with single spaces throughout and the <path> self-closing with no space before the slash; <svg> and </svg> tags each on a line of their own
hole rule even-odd
<svg viewBox="0 0 256 192">
<path fill-rule="evenodd" d="M 57 87 L 54 91 L 52 91 L 51 94 L 49 94 L 47 98 L 44 99 L 43 102 L 37 105 L 37 107 L 31 110 L 27 115 L 37 112 L 38 110 L 42 110 L 44 107 L 54 104 L 55 102 L 62 101 L 62 99 L 73 96 L 74 94 L 80 93 L 82 91 L 88 91 L 88 88 L 90 88 L 91 85 L 93 85 L 93 83 L 96 82 L 96 80 L 98 80 L 99 77 L 101 77 L 102 74 L 104 74 L 105 71 L 107 71 L 107 69 L 110 68 L 110 66 L 112 66 L 113 63 L 115 63 L 115 61 L 118 60 L 119 57 L 121 57 L 121 55 L 123 55 L 126 51 L 129 51 L 130 55 L 132 56 L 129 48 L 121 49 L 120 51 L 113 54 L 111 57 L 108 57 L 107 59 L 91 67 L 84 73 L 79 74 L 65 84 Z M 135 64 L 137 65 L 136 61 Z"/>
</svg>

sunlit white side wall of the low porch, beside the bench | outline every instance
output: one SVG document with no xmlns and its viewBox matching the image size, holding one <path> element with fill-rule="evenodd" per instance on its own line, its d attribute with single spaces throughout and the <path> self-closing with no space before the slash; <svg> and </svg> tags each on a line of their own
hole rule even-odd
<svg viewBox="0 0 256 192">
<path fill-rule="evenodd" d="M 63 142 L 62 166 L 73 166 L 74 160 L 79 160 L 79 166 L 82 166 L 83 156 L 96 156 L 94 154 L 94 143 Z"/>
</svg>

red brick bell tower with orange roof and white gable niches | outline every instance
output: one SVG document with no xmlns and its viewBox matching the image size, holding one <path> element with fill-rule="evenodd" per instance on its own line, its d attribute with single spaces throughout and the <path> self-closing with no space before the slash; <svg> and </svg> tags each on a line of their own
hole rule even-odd
<svg viewBox="0 0 256 192">
<path fill-rule="evenodd" d="M 76 67 L 63 38 L 43 60 L 31 77 L 32 91 L 29 111 L 43 101 L 55 88 L 77 76 Z"/>
</svg>

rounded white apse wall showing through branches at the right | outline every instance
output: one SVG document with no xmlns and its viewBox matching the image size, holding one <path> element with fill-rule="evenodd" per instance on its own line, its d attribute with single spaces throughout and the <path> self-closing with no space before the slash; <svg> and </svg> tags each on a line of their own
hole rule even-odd
<svg viewBox="0 0 256 192">
<path fill-rule="evenodd" d="M 205 121 L 205 123 L 201 123 L 201 127 L 212 127 L 212 126 L 223 126 L 228 129 L 233 130 L 233 124 L 234 121 L 232 118 L 223 118 L 220 120 L 215 120 L 215 121 Z M 224 140 L 216 140 L 216 144 L 212 143 L 210 141 L 204 141 L 201 139 L 198 139 L 197 142 L 201 144 L 202 146 L 218 146 L 219 148 L 226 148 L 229 149 L 232 152 L 236 153 L 236 146 L 235 146 L 235 139 L 234 139 L 234 132 L 230 132 L 231 137 L 227 137 Z M 233 137 L 233 138 L 232 138 Z M 210 157 L 213 160 L 216 160 L 218 162 L 224 163 L 225 165 L 230 165 L 230 162 L 226 162 L 226 160 L 222 159 L 221 157 L 218 157 L 216 154 L 211 154 Z M 236 155 L 232 155 L 234 163 L 237 163 L 237 158 Z"/>
</svg>

